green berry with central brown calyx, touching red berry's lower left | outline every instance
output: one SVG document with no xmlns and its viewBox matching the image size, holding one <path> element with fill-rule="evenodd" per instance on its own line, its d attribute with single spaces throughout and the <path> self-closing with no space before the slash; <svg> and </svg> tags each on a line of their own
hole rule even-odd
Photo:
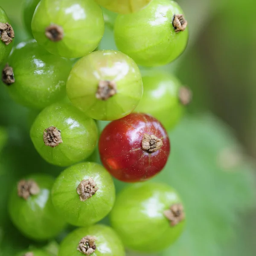
<svg viewBox="0 0 256 256">
<path fill-rule="evenodd" d="M 65 169 L 52 188 L 52 203 L 75 226 L 89 226 L 104 218 L 115 201 L 109 173 L 97 163 L 79 163 Z"/>
</svg>

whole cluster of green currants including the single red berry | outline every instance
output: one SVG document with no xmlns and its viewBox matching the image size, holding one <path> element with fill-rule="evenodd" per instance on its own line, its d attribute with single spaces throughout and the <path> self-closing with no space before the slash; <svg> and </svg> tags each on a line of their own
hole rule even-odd
<svg viewBox="0 0 256 256">
<path fill-rule="evenodd" d="M 97 50 L 102 8 L 119 13 L 113 34 L 120 51 Z M 166 131 L 191 95 L 175 76 L 138 65 L 181 55 L 188 40 L 182 9 L 171 0 L 26 0 L 24 18 L 34 38 L 13 47 L 15 31 L 0 8 L 2 81 L 12 99 L 40 111 L 30 130 L 38 153 L 67 168 L 56 179 L 35 172 L 15 184 L 13 223 L 37 241 L 55 238 L 67 224 L 78 227 L 58 256 L 168 247 L 182 233 L 183 204 L 172 187 L 145 181 L 166 165 Z M 97 120 L 111 121 L 100 136 Z M 85 161 L 97 145 L 102 165 Z M 133 184 L 116 197 L 111 175 Z M 107 215 L 111 227 L 97 224 Z"/>
</svg>

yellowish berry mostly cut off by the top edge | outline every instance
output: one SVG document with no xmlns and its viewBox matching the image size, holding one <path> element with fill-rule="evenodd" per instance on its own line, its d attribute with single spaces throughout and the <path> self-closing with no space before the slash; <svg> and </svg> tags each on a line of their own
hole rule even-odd
<svg viewBox="0 0 256 256">
<path fill-rule="evenodd" d="M 151 0 L 96 0 L 96 2 L 111 12 L 128 14 L 143 9 Z"/>
</svg>

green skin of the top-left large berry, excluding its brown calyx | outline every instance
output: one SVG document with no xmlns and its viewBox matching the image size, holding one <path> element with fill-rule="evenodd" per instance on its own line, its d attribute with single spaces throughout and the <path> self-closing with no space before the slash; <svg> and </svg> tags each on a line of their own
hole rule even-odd
<svg viewBox="0 0 256 256">
<path fill-rule="evenodd" d="M 62 40 L 56 42 L 46 37 L 45 30 L 51 24 L 62 27 Z M 38 44 L 49 52 L 79 58 L 96 49 L 105 25 L 102 10 L 94 0 L 41 0 L 31 26 Z"/>
</svg>

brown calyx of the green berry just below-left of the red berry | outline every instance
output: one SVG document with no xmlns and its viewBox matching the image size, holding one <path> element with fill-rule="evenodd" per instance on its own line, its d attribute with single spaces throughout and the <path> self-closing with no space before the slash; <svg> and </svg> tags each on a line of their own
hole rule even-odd
<svg viewBox="0 0 256 256">
<path fill-rule="evenodd" d="M 85 201 L 92 197 L 98 190 L 95 181 L 89 177 L 87 180 L 82 180 L 76 188 L 76 192 L 79 195 L 80 201 Z"/>
</svg>

